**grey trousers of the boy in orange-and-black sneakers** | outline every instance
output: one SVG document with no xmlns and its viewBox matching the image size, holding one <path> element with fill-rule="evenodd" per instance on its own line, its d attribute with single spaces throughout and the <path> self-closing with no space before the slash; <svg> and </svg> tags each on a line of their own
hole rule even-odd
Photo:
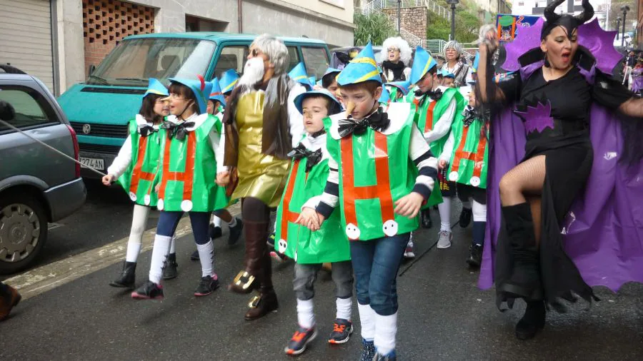
<svg viewBox="0 0 643 361">
<path fill-rule="evenodd" d="M 332 263 L 332 278 L 335 283 L 335 296 L 337 298 L 350 298 L 353 295 L 353 267 L 351 261 Z M 306 301 L 315 295 L 314 283 L 317 273 L 321 270 L 321 263 L 300 264 L 295 263 L 294 280 L 292 285 L 297 299 Z"/>
</svg>

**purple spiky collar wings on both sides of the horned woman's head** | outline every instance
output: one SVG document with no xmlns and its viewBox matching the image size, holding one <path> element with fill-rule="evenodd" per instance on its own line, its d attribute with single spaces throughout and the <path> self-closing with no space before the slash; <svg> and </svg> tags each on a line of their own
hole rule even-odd
<svg viewBox="0 0 643 361">
<path fill-rule="evenodd" d="M 520 29 L 516 39 L 507 43 L 505 46 L 507 57 L 502 64 L 504 70 L 523 70 L 523 72 L 527 70 L 529 74 L 533 72 L 534 69 L 529 66 L 521 69 L 518 58 L 527 53 L 527 51 L 540 46 L 540 33 L 543 23 L 544 19 L 541 18 L 536 21 L 536 24 Z M 596 67 L 603 73 L 612 74 L 614 67 L 622 59 L 622 55 L 614 49 L 613 41 L 616 33 L 617 31 L 604 31 L 601 29 L 597 19 L 578 27 L 578 44 L 584 46 L 596 58 Z"/>
</svg>

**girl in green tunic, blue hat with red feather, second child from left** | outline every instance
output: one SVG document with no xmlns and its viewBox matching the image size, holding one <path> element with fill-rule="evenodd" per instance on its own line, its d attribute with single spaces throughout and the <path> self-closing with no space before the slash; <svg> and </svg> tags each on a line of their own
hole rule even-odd
<svg viewBox="0 0 643 361">
<path fill-rule="evenodd" d="M 219 288 L 214 273 L 214 244 L 208 235 L 210 213 L 228 204 L 224 188 L 216 179 L 221 135 L 215 126 L 216 116 L 210 116 L 207 102 L 212 83 L 199 80 L 171 78 L 169 87 L 170 113 L 162 129 L 159 181 L 156 185 L 161 211 L 152 250 L 149 280 L 131 293 L 139 300 L 163 298 L 161 277 L 163 265 L 171 257 L 171 239 L 184 213 L 189 213 L 196 250 L 201 261 L 201 280 L 194 291 L 204 296 Z M 219 162 L 220 163 L 220 162 Z M 168 255 L 169 253 L 169 255 Z"/>
</svg>

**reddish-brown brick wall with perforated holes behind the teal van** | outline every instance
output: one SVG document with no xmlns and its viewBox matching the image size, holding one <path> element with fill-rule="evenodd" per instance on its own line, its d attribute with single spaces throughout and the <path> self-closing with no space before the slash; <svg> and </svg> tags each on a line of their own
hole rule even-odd
<svg viewBox="0 0 643 361">
<path fill-rule="evenodd" d="M 119 0 L 82 0 L 85 74 L 124 37 L 154 33 L 154 8 Z"/>
</svg>

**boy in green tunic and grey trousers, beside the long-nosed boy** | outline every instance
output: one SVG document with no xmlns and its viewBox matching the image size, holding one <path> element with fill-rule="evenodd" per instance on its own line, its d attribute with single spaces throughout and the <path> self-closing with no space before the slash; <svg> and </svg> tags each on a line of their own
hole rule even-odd
<svg viewBox="0 0 643 361">
<path fill-rule="evenodd" d="M 289 153 L 293 161 L 275 223 L 275 250 L 295 261 L 293 287 L 299 327 L 286 345 L 284 351 L 287 355 L 301 354 L 316 336 L 314 282 L 322 263 L 332 263 L 337 298 L 337 318 L 328 342 L 347 342 L 353 332 L 353 270 L 349 242 L 342 232 L 339 214 L 332 215 L 319 232 L 311 232 L 296 223 L 304 203 L 310 200 L 308 205 L 314 207 L 324 192 L 329 173 L 324 118 L 339 113 L 341 104 L 325 89 L 302 93 L 294 103 L 304 115 L 305 135 Z"/>
</svg>

